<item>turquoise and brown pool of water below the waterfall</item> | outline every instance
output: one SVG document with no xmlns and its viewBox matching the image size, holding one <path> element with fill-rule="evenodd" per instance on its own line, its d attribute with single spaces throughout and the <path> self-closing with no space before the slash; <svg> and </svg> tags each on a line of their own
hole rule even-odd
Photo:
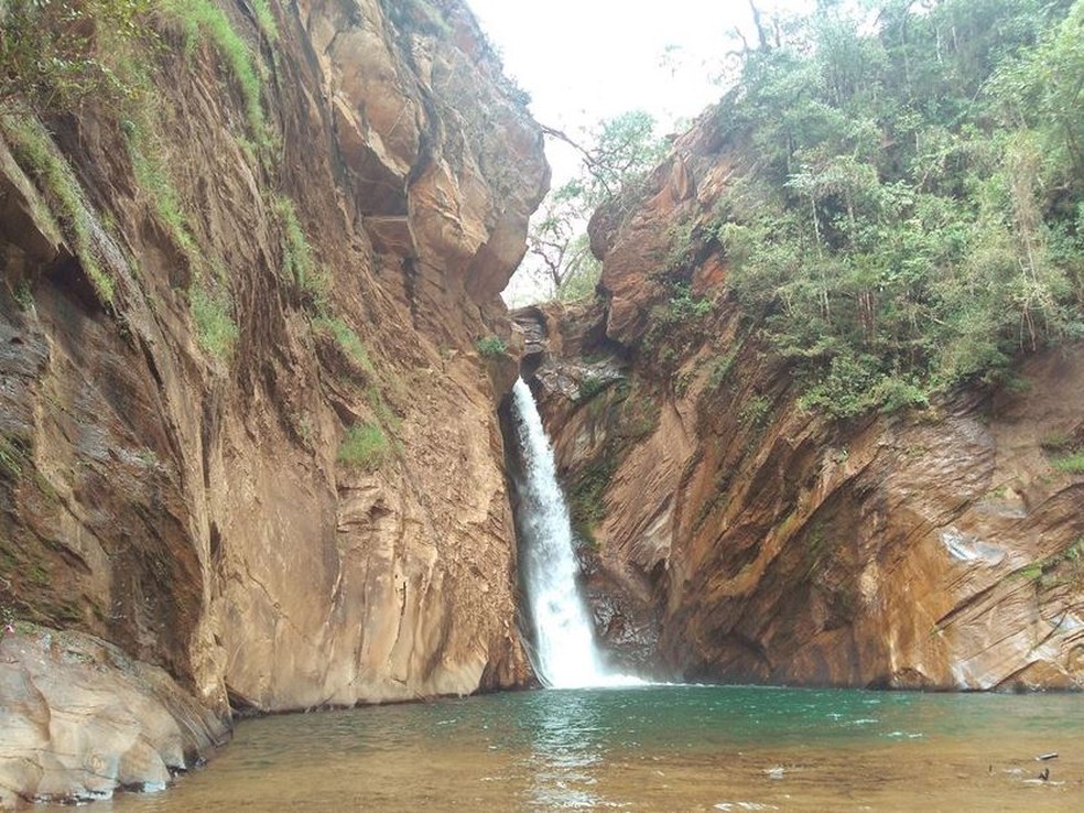
<svg viewBox="0 0 1084 813">
<path fill-rule="evenodd" d="M 1078 695 L 648 686 L 246 720 L 96 809 L 1080 811 L 1082 780 Z"/>
</svg>

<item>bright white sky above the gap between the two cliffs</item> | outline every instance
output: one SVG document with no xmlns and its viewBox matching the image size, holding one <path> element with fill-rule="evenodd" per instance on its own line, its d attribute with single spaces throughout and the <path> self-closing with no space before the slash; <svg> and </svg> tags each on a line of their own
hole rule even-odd
<svg viewBox="0 0 1084 813">
<path fill-rule="evenodd" d="M 573 138 L 626 110 L 652 113 L 662 132 L 695 118 L 722 95 L 713 78 L 734 47 L 730 32 L 752 29 L 746 0 L 467 2 L 505 72 L 531 95 L 534 118 Z M 793 4 L 758 0 L 766 12 Z M 555 186 L 576 173 L 575 156 L 552 140 L 549 154 Z"/>
</svg>

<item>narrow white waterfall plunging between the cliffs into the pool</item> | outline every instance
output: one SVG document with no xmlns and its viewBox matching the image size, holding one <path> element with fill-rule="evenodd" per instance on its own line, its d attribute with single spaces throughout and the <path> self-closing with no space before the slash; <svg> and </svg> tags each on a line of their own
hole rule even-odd
<svg viewBox="0 0 1084 813">
<path fill-rule="evenodd" d="M 527 383 L 512 389 L 516 435 L 523 458 L 519 531 L 523 586 L 534 625 L 531 662 L 539 680 L 553 689 L 643 683 L 606 669 L 595 643 L 587 605 L 576 584 L 568 507 L 557 483 L 553 448 Z"/>
</svg>

